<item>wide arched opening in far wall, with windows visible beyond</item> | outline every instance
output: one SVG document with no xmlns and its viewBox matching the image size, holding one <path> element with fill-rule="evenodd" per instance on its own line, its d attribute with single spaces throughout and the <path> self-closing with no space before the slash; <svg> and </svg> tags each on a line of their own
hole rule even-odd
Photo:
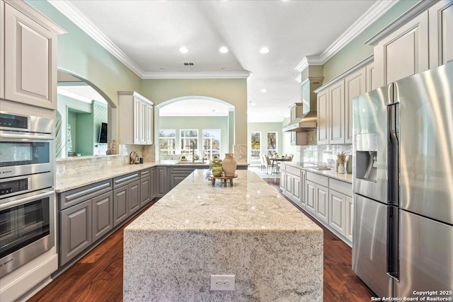
<svg viewBox="0 0 453 302">
<path fill-rule="evenodd" d="M 234 105 L 187 95 L 155 106 L 156 159 L 190 161 L 222 158 L 234 144 Z"/>
</svg>

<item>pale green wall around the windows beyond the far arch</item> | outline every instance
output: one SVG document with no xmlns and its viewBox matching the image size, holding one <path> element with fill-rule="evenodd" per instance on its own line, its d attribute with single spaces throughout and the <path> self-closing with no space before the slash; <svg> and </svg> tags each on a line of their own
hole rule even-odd
<svg viewBox="0 0 453 302">
<path fill-rule="evenodd" d="M 198 129 L 198 154 L 202 154 L 202 129 L 220 129 L 220 157 L 228 151 L 228 117 L 160 117 L 159 129 L 176 129 L 176 153 L 180 150 L 180 129 Z M 156 137 L 156 145 L 159 138 Z"/>
</svg>

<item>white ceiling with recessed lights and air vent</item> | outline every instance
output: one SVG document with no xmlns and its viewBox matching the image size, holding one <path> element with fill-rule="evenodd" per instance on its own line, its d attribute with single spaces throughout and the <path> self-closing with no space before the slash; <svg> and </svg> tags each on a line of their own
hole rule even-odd
<svg viewBox="0 0 453 302">
<path fill-rule="evenodd" d="M 287 106 L 300 101 L 295 79 L 306 57 L 322 64 L 395 1 L 50 3 L 144 79 L 248 76 L 248 122 L 282 122 L 289 116 Z M 229 52 L 220 53 L 222 46 Z M 268 54 L 260 54 L 263 46 L 269 47 Z M 188 52 L 180 53 L 180 47 Z"/>
</svg>

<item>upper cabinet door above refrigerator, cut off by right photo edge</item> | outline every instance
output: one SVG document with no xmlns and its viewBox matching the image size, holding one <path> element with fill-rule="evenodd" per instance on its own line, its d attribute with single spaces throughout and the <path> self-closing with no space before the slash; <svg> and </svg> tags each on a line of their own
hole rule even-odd
<svg viewBox="0 0 453 302">
<path fill-rule="evenodd" d="M 439 1 L 429 9 L 430 68 L 453 60 L 453 1 Z"/>
</svg>

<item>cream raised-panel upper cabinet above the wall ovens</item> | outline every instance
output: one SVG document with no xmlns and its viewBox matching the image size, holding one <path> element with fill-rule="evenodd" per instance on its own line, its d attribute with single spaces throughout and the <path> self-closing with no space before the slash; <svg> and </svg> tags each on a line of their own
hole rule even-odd
<svg viewBox="0 0 453 302">
<path fill-rule="evenodd" d="M 57 35 L 64 30 L 24 1 L 2 0 L 0 10 L 1 97 L 57 109 Z"/>
</svg>

